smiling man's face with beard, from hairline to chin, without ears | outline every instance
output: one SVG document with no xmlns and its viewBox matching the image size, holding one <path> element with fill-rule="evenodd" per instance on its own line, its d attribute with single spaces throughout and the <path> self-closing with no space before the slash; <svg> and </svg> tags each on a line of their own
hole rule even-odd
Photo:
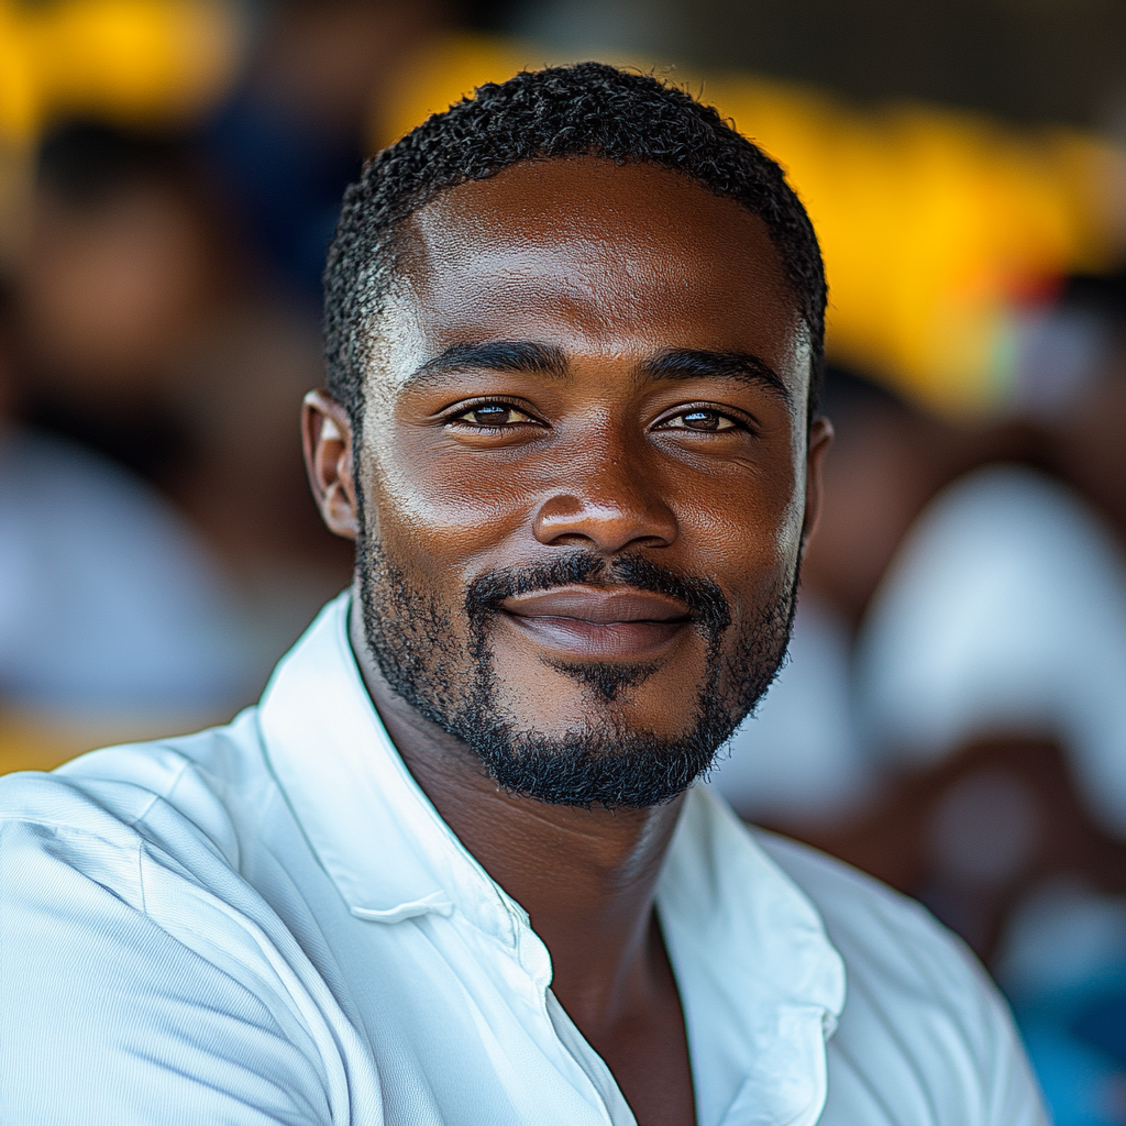
<svg viewBox="0 0 1126 1126">
<path fill-rule="evenodd" d="M 403 240 L 356 471 L 369 647 L 502 785 L 664 801 L 788 636 L 810 348 L 766 226 L 575 159 L 447 191 Z"/>
</svg>

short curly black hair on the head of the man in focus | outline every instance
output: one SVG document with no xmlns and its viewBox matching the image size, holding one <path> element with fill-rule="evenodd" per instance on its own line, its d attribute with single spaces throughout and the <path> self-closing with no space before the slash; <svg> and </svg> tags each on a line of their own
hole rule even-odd
<svg viewBox="0 0 1126 1126">
<path fill-rule="evenodd" d="M 480 87 L 369 160 L 346 193 L 324 271 L 324 342 L 329 391 L 354 423 L 369 325 L 393 284 L 402 222 L 461 184 L 568 157 L 672 169 L 766 223 L 810 332 L 812 417 L 824 363 L 825 272 L 813 224 L 781 168 L 680 88 L 586 62 Z"/>
</svg>

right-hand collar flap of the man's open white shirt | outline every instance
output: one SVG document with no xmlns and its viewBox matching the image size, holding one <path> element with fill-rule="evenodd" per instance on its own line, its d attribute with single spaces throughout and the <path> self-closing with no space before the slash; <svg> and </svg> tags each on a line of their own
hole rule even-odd
<svg viewBox="0 0 1126 1126">
<path fill-rule="evenodd" d="M 692 1045 L 699 1121 L 815 1123 L 844 964 L 813 904 L 707 787 L 687 795 L 656 905 Z"/>
</svg>

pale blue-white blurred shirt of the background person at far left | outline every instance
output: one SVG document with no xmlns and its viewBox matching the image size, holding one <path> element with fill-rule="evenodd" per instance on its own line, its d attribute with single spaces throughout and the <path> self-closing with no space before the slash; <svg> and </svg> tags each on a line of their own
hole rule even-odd
<svg viewBox="0 0 1126 1126">
<path fill-rule="evenodd" d="M 252 685 L 232 591 L 199 537 L 109 458 L 17 422 L 0 296 L 0 770 L 214 721 Z"/>
</svg>

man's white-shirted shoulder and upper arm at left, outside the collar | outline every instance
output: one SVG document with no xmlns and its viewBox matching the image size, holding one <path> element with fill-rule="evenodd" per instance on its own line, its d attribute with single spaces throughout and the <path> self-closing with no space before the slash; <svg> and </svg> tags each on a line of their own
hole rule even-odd
<svg viewBox="0 0 1126 1126">
<path fill-rule="evenodd" d="M 0 779 L 12 1120 L 348 1120 L 357 1034 L 239 874 L 252 727 Z"/>
</svg>

